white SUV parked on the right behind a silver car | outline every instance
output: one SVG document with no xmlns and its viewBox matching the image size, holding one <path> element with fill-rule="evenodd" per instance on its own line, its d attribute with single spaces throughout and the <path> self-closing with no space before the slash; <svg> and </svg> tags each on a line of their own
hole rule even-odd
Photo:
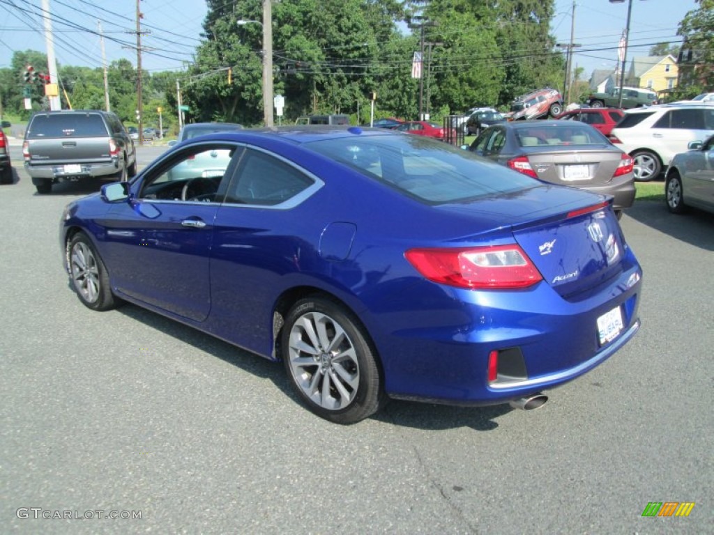
<svg viewBox="0 0 714 535">
<path fill-rule="evenodd" d="M 653 180 L 690 141 L 714 134 L 714 104 L 676 103 L 633 108 L 610 133 L 610 141 L 633 157 L 635 180 Z"/>
</svg>

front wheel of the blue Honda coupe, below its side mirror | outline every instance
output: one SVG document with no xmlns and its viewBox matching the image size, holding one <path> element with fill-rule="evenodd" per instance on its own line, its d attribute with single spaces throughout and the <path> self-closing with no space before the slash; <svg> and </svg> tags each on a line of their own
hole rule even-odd
<svg viewBox="0 0 714 535">
<path fill-rule="evenodd" d="M 77 233 L 69 241 L 67 258 L 72 287 L 82 305 L 97 311 L 114 308 L 106 267 L 86 234 Z"/>
</svg>

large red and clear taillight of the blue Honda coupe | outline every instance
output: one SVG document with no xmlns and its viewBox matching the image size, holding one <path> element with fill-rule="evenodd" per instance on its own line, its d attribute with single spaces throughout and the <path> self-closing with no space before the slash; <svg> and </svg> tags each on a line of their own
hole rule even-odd
<svg viewBox="0 0 714 535">
<path fill-rule="evenodd" d="M 406 259 L 433 282 L 460 288 L 525 288 L 543 279 L 518 245 L 411 249 Z"/>
</svg>

